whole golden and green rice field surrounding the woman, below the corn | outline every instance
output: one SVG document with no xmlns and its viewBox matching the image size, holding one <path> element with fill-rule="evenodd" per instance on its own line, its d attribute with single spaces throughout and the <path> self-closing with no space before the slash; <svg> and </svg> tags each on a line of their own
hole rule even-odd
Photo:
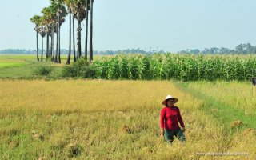
<svg viewBox="0 0 256 160">
<path fill-rule="evenodd" d="M 256 158 L 250 82 L 0 80 L 0 88 L 1 159 Z M 166 94 L 179 98 L 185 143 L 159 136 Z"/>
</svg>

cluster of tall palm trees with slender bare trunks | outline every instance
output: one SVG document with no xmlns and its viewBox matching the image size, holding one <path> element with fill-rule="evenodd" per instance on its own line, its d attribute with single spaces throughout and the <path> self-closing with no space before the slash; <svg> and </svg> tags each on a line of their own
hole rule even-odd
<svg viewBox="0 0 256 160">
<path fill-rule="evenodd" d="M 41 47 L 41 61 L 43 59 L 43 38 L 46 37 L 46 60 L 52 62 L 61 63 L 61 48 L 60 48 L 60 35 L 61 26 L 65 22 L 66 15 L 69 14 L 70 19 L 70 31 L 69 31 L 69 52 L 66 64 L 70 64 L 71 60 L 71 40 L 73 39 L 73 57 L 74 62 L 78 58 L 82 58 L 81 48 L 81 22 L 86 20 L 86 40 L 85 40 L 85 55 L 87 60 L 88 49 L 88 19 L 90 11 L 90 62 L 93 60 L 93 3 L 94 0 L 50 0 L 50 6 L 42 9 L 42 16 L 34 15 L 30 18 L 30 22 L 35 24 L 34 30 L 36 31 L 36 44 L 37 44 L 37 59 L 39 61 L 38 54 L 38 34 L 42 38 Z M 74 39 L 74 20 L 78 22 L 77 28 L 77 49 Z M 71 25 L 72 24 L 72 25 Z M 72 27 L 71 27 L 72 26 Z M 71 28 L 73 30 L 71 30 Z M 72 32 L 71 32 L 72 31 Z M 56 36 L 56 38 L 55 38 Z M 56 42 L 55 42 L 56 41 Z M 55 46 L 56 45 L 56 46 Z"/>
</svg>

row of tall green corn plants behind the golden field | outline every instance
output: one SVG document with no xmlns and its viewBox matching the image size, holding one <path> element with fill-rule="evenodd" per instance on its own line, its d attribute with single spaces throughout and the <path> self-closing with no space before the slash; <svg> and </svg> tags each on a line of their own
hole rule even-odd
<svg viewBox="0 0 256 160">
<path fill-rule="evenodd" d="M 94 60 L 96 78 L 247 81 L 256 75 L 255 55 L 119 54 Z"/>
</svg>

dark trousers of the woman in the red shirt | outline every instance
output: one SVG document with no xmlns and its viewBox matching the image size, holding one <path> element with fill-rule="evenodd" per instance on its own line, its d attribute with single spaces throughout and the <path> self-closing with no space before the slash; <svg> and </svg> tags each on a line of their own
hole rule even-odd
<svg viewBox="0 0 256 160">
<path fill-rule="evenodd" d="M 182 130 L 178 128 L 177 130 L 166 130 L 165 129 L 165 140 L 166 142 L 173 142 L 174 141 L 174 135 L 178 140 L 185 142 L 186 138 L 185 135 L 183 134 Z"/>
</svg>

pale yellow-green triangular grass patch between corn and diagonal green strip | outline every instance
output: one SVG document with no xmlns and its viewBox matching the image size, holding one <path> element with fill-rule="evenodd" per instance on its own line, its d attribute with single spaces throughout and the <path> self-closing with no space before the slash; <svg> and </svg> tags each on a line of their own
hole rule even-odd
<svg viewBox="0 0 256 160">
<path fill-rule="evenodd" d="M 256 116 L 256 87 L 251 82 L 189 82 L 186 84 L 191 90 L 199 90 L 202 94 L 218 99 L 219 102 L 237 110 L 244 110 L 244 114 Z M 211 86 L 211 87 L 209 87 Z M 228 88 L 228 90 L 227 90 Z"/>
</svg>

